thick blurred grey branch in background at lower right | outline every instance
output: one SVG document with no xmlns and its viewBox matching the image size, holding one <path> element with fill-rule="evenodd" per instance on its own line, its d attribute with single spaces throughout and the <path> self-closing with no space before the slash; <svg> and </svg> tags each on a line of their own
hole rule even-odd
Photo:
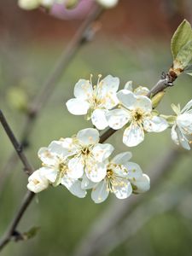
<svg viewBox="0 0 192 256">
<path fill-rule="evenodd" d="M 179 160 L 183 151 L 172 149 L 166 152 L 161 158 L 158 156 L 157 162 L 149 168 L 151 178 L 151 189 L 160 182 L 160 178 L 165 177 L 166 171 L 171 169 Z M 131 214 L 133 209 L 137 207 L 143 197 L 146 195 L 135 195 L 128 198 L 127 201 L 113 201 L 111 205 L 102 213 L 100 218 L 96 218 L 96 222 L 90 227 L 90 231 L 79 246 L 75 249 L 75 256 L 93 256 L 97 255 L 98 250 L 102 249 L 102 240 L 108 236 L 125 216 Z"/>
</svg>

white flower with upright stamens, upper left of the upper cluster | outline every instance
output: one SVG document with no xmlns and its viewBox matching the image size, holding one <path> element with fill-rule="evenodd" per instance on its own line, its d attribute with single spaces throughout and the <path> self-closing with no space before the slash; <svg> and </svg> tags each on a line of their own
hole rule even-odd
<svg viewBox="0 0 192 256">
<path fill-rule="evenodd" d="M 99 76 L 100 78 L 101 76 Z M 80 79 L 74 87 L 75 98 L 67 101 L 67 109 L 75 115 L 86 115 L 97 129 L 103 130 L 108 126 L 106 114 L 109 109 L 118 104 L 116 92 L 119 88 L 119 79 L 108 75 L 92 86 L 91 79 Z"/>
</svg>

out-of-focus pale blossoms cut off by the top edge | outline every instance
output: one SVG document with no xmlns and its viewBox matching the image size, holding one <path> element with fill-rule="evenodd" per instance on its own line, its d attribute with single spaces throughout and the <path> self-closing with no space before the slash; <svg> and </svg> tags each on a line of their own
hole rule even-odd
<svg viewBox="0 0 192 256">
<path fill-rule="evenodd" d="M 104 8 L 113 8 L 119 0 L 95 0 L 97 3 L 101 4 Z M 93 0 L 89 0 L 93 2 Z M 79 0 L 19 0 L 19 6 L 22 9 L 36 9 L 39 6 L 44 8 L 51 8 L 55 4 L 61 4 L 66 8 L 75 8 L 79 4 Z"/>
</svg>

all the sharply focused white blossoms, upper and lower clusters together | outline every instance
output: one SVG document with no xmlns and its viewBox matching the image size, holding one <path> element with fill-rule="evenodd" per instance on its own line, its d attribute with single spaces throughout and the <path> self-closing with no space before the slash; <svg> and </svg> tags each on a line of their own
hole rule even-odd
<svg viewBox="0 0 192 256">
<path fill-rule="evenodd" d="M 53 141 L 48 148 L 40 148 L 38 157 L 42 167 L 29 177 L 28 189 L 38 193 L 49 185 L 61 184 L 80 198 L 91 189 L 91 198 L 96 203 L 105 201 L 110 192 L 125 199 L 132 193 L 147 191 L 149 177 L 130 161 L 131 153 L 123 152 L 112 158 L 113 146 L 100 143 L 98 130 L 108 126 L 113 130 L 124 129 L 122 141 L 128 147 L 142 143 L 145 133 L 170 127 L 172 140 L 190 149 L 192 100 L 182 110 L 172 104 L 176 115 L 166 116 L 154 110 L 148 88 L 139 86 L 133 90 L 129 81 L 123 90 L 118 90 L 119 79 L 111 75 L 104 79 L 99 75 L 96 85 L 92 77 L 75 84 L 75 97 L 67 101 L 67 109 L 75 115 L 84 115 L 96 129 L 86 128 L 73 137 Z"/>
</svg>

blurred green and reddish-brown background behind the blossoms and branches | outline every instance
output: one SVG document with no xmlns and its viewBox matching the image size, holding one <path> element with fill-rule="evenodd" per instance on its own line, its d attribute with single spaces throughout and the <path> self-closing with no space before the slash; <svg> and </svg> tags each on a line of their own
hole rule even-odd
<svg viewBox="0 0 192 256">
<path fill-rule="evenodd" d="M 172 65 L 170 40 L 172 32 L 186 18 L 192 22 L 192 4 L 187 0 L 121 0 L 119 5 L 103 12 L 96 34 L 63 70 L 54 93 L 38 115 L 28 139 L 26 154 L 38 168 L 38 148 L 60 137 L 71 137 L 90 126 L 83 117 L 67 112 L 65 102 L 73 96 L 78 79 L 89 79 L 90 73 L 120 78 L 123 88 L 128 80 L 151 88 L 160 74 Z M 44 10 L 21 10 L 14 0 L 0 3 L 0 108 L 3 109 L 16 137 L 22 137 L 25 108 L 41 90 L 61 52 L 78 30 L 86 14 L 77 19 L 60 20 Z M 192 79 L 182 75 L 175 86 L 167 90 L 160 111 L 172 113 L 172 102 L 184 106 L 192 98 Z M 118 131 L 108 142 L 115 153 L 127 150 Z M 155 175 L 175 148 L 170 130 L 147 135 L 145 141 L 131 148 L 133 159 L 148 175 Z M 20 162 L 4 173 L 13 147 L 0 127 L 0 236 L 15 215 L 26 193 L 27 177 Z M 22 232 L 40 226 L 34 238 L 10 242 L 2 256 L 23 255 L 191 255 L 192 253 L 192 160 L 190 152 L 180 150 L 174 164 L 145 195 L 131 195 L 116 201 L 113 195 L 100 205 L 71 195 L 57 187 L 37 195 L 20 222 Z M 150 172 L 150 173 L 149 173 Z M 4 178 L 6 176 L 6 178 Z M 129 207 L 129 214 L 119 218 L 118 209 Z M 116 212 L 117 211 L 117 212 Z M 112 218 L 113 216 L 113 218 Z M 106 223 L 111 229 L 102 233 L 100 241 L 91 234 L 100 234 Z M 91 240 L 91 239 L 92 240 Z M 92 252 L 98 247 L 98 252 Z M 90 253 L 85 251 L 90 250 Z M 84 251 L 85 250 L 85 251 Z"/>
</svg>

